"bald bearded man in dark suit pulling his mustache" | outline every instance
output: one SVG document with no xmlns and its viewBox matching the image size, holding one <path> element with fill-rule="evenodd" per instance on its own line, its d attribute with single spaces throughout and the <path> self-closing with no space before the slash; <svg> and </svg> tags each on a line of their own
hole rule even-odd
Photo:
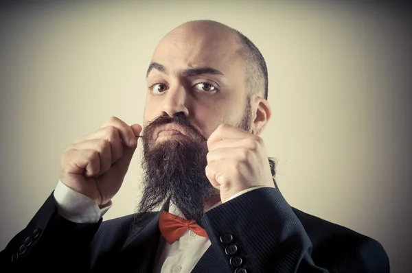
<svg viewBox="0 0 412 273">
<path fill-rule="evenodd" d="M 389 272 L 378 241 L 291 208 L 275 187 L 259 137 L 271 118 L 267 69 L 248 38 L 185 23 L 160 41 L 146 78 L 144 132 L 112 117 L 70 145 L 55 191 L 1 252 L 2 268 Z M 137 139 L 137 213 L 102 222 Z"/>
</svg>

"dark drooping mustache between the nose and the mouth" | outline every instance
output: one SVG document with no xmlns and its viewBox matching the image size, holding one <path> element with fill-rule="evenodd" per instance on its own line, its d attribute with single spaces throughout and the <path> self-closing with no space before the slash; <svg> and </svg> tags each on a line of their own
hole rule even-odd
<svg viewBox="0 0 412 273">
<path fill-rule="evenodd" d="M 150 139 L 153 132 L 159 127 L 168 123 L 174 123 L 178 126 L 185 128 L 191 135 L 195 136 L 198 140 L 207 141 L 207 138 L 194 126 L 194 124 L 185 117 L 183 112 L 176 112 L 172 117 L 170 116 L 159 116 L 156 119 L 150 121 L 144 128 L 144 134 L 142 139 Z"/>
</svg>

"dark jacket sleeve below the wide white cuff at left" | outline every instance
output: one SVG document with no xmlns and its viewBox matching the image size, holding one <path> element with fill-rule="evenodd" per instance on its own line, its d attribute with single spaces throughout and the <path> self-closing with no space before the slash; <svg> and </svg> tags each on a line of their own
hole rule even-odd
<svg viewBox="0 0 412 273">
<path fill-rule="evenodd" d="M 89 244 L 101 222 L 77 224 L 61 217 L 52 192 L 26 228 L 0 252 L 0 268 L 52 272 L 58 265 L 67 272 L 86 272 Z"/>
</svg>

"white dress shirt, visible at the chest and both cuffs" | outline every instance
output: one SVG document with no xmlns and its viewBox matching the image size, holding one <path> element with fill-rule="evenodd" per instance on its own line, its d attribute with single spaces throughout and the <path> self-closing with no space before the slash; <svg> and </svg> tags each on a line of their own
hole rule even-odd
<svg viewBox="0 0 412 273">
<path fill-rule="evenodd" d="M 231 196 L 227 201 L 258 188 L 262 187 L 253 187 L 241 191 L 240 193 Z M 58 213 L 62 217 L 65 217 L 65 219 L 75 223 L 97 223 L 99 222 L 99 219 L 103 217 L 104 213 L 106 213 L 106 211 L 113 205 L 110 201 L 104 208 L 100 209 L 93 200 L 86 195 L 73 191 L 60 180 L 54 191 L 54 198 L 56 199 Z M 214 206 L 211 206 L 210 209 L 214 209 L 220 204 L 222 203 L 218 202 Z M 169 212 L 185 218 L 183 213 L 181 213 L 172 202 L 170 203 Z M 161 236 L 152 272 L 191 272 L 196 263 L 206 252 L 207 248 L 209 248 L 210 244 L 208 237 L 198 236 L 192 232 L 192 230 L 187 230 L 185 234 L 173 244 L 168 244 L 164 237 Z"/>
</svg>

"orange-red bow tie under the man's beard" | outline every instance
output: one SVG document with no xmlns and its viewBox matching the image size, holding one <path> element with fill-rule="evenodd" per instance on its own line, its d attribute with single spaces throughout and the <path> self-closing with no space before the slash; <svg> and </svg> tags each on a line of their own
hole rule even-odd
<svg viewBox="0 0 412 273">
<path fill-rule="evenodd" d="M 159 218 L 159 229 L 163 237 L 169 244 L 177 241 L 186 230 L 192 230 L 199 236 L 207 237 L 206 230 L 201 228 L 194 220 L 187 220 L 182 217 L 172 215 L 167 211 L 162 211 Z"/>
</svg>

